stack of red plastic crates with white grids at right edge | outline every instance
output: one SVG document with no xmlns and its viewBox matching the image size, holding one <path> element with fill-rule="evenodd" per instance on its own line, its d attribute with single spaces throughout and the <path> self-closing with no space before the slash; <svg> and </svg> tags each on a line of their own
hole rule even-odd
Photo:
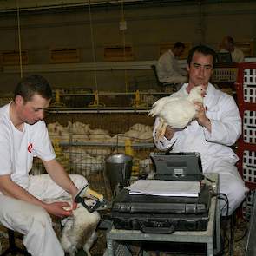
<svg viewBox="0 0 256 256">
<path fill-rule="evenodd" d="M 237 154 L 238 167 L 246 187 L 256 188 L 256 62 L 239 64 L 237 82 L 238 106 L 242 131 Z"/>
</svg>

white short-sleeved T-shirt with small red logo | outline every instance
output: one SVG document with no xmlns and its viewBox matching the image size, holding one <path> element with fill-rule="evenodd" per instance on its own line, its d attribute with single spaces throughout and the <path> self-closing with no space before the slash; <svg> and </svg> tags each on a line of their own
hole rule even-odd
<svg viewBox="0 0 256 256">
<path fill-rule="evenodd" d="M 18 130 L 10 121 L 10 103 L 0 108 L 0 155 L 0 175 L 11 174 L 11 180 L 25 189 L 33 157 L 56 157 L 45 122 L 24 123 L 23 131 Z"/>
</svg>

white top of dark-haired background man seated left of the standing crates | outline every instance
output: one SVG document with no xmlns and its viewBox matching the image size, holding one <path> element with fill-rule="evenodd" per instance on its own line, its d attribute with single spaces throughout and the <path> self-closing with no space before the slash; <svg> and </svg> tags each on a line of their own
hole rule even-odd
<svg viewBox="0 0 256 256">
<path fill-rule="evenodd" d="M 160 82 L 183 83 L 187 82 L 187 72 L 181 69 L 173 52 L 169 49 L 161 55 L 157 64 L 156 71 Z"/>
</svg>

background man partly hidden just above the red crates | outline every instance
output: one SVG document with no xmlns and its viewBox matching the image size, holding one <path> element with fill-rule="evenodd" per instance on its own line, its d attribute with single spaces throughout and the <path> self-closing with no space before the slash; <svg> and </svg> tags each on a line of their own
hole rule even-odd
<svg viewBox="0 0 256 256">
<path fill-rule="evenodd" d="M 222 49 L 220 52 L 228 51 L 231 54 L 232 62 L 240 63 L 245 62 L 244 53 L 235 46 L 233 38 L 231 36 L 226 36 L 222 40 Z"/>
</svg>

